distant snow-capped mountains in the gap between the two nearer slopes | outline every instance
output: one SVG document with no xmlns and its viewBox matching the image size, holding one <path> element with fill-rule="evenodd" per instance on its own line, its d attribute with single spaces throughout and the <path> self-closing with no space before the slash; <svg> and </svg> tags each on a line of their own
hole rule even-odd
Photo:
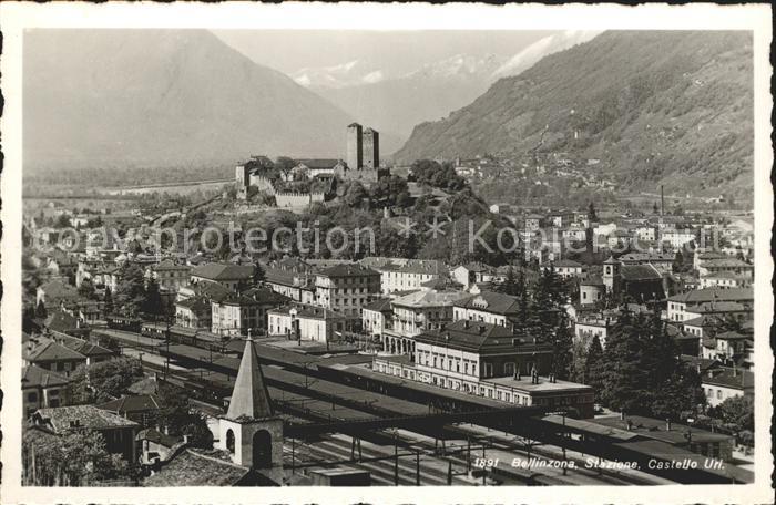
<svg viewBox="0 0 776 505">
<path fill-rule="evenodd" d="M 355 60 L 333 66 L 304 68 L 294 80 L 381 131 L 386 153 L 392 153 L 426 121 L 447 116 L 498 79 L 514 75 L 541 58 L 592 39 L 599 32 L 568 30 L 544 37 L 513 55 L 455 54 L 401 74 L 379 62 Z"/>
</svg>

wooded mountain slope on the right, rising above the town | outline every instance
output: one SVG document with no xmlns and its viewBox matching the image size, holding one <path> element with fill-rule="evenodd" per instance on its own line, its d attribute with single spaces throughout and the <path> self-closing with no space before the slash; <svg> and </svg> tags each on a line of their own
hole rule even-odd
<svg viewBox="0 0 776 505">
<path fill-rule="evenodd" d="M 599 159 L 627 187 L 745 194 L 753 128 L 749 33 L 612 31 L 419 124 L 395 158 L 538 150 Z"/>
</svg>

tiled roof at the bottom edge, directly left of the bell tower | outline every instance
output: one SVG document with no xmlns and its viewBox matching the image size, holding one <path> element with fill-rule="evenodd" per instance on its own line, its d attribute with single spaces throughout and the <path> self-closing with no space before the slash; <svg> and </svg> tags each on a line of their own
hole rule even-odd
<svg viewBox="0 0 776 505">
<path fill-rule="evenodd" d="M 236 465 L 221 450 L 184 449 L 147 477 L 146 487 L 231 486 L 251 470 Z"/>
</svg>

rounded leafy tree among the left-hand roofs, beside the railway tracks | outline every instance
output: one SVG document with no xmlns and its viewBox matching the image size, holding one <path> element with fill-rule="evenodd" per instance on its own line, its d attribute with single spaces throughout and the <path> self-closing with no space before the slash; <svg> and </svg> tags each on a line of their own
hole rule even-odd
<svg viewBox="0 0 776 505">
<path fill-rule="evenodd" d="M 79 367 L 71 375 L 68 396 L 74 404 L 108 402 L 143 377 L 140 361 L 127 357 Z"/>
</svg>

